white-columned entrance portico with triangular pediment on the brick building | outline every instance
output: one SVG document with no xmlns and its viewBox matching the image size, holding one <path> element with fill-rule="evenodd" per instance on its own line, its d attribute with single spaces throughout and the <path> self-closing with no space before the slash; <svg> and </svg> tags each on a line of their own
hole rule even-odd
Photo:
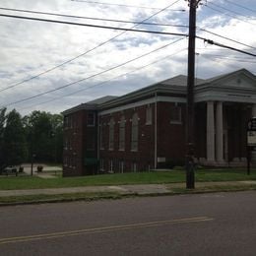
<svg viewBox="0 0 256 256">
<path fill-rule="evenodd" d="M 206 104 L 206 153 L 199 159 L 207 165 L 244 165 L 246 121 L 256 116 L 255 78 L 239 70 L 207 82 L 195 93 L 196 102 Z"/>
</svg>

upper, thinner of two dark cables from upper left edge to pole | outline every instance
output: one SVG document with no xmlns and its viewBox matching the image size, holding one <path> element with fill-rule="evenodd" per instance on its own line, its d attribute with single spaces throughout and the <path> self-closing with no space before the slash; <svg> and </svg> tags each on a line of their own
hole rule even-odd
<svg viewBox="0 0 256 256">
<path fill-rule="evenodd" d="M 138 21 L 124 21 L 124 20 L 116 20 L 116 19 L 104 19 L 104 18 L 96 18 L 96 17 L 76 16 L 76 15 L 67 15 L 67 14 L 49 13 L 49 12 L 38 12 L 38 11 L 32 11 L 32 10 L 13 9 L 13 8 L 4 8 L 4 7 L 0 7 L 0 10 L 12 11 L 12 12 L 21 12 L 21 13 L 29 13 L 29 14 L 49 15 L 49 16 L 64 17 L 64 18 L 93 20 L 93 21 L 101 21 L 101 22 L 161 26 L 161 27 L 188 28 L 188 26 L 185 26 L 185 25 L 175 25 L 175 24 L 171 25 L 171 24 L 144 23 L 144 22 L 142 23 L 142 22 L 138 22 Z"/>
</svg>

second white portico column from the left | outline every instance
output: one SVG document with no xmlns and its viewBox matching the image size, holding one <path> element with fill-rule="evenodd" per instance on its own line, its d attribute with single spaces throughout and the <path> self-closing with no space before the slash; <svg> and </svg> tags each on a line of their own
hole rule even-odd
<svg viewBox="0 0 256 256">
<path fill-rule="evenodd" d="M 217 102 L 216 106 L 216 159 L 224 161 L 224 114 L 223 102 Z"/>
</svg>

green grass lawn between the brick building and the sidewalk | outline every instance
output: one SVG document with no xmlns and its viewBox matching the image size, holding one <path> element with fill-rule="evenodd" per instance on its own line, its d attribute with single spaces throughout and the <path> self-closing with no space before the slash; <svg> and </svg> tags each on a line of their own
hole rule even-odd
<svg viewBox="0 0 256 256">
<path fill-rule="evenodd" d="M 237 181 L 256 180 L 256 169 L 251 175 L 245 169 L 200 169 L 196 170 L 196 182 L 208 181 Z M 103 174 L 82 177 L 56 177 L 39 178 L 36 176 L 0 176 L 0 189 L 33 189 L 33 188 L 60 188 L 96 185 L 121 185 L 121 184 L 160 184 L 185 182 L 184 170 L 131 172 L 123 174 Z"/>
</svg>

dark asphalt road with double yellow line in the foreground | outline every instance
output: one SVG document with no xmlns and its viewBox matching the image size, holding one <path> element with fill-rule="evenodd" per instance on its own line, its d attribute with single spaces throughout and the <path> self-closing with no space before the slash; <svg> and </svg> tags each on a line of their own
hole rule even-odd
<svg viewBox="0 0 256 256">
<path fill-rule="evenodd" d="M 0 255 L 256 255 L 256 192 L 0 208 Z"/>
</svg>

